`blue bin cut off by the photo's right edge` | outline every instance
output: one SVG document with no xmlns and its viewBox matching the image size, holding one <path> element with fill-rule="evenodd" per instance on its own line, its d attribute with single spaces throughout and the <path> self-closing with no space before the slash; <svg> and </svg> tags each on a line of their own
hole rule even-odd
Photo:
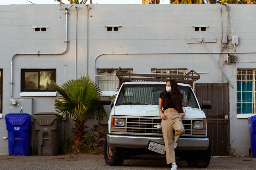
<svg viewBox="0 0 256 170">
<path fill-rule="evenodd" d="M 249 154 L 252 158 L 256 158 L 256 115 L 247 118 L 250 132 L 250 150 Z"/>
</svg>

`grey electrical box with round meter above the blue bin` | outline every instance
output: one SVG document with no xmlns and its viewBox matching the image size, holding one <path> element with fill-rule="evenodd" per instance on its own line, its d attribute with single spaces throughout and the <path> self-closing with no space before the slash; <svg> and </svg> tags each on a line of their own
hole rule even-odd
<svg viewBox="0 0 256 170">
<path fill-rule="evenodd" d="M 28 113 L 32 115 L 32 98 L 9 99 L 9 113 Z"/>
</svg>

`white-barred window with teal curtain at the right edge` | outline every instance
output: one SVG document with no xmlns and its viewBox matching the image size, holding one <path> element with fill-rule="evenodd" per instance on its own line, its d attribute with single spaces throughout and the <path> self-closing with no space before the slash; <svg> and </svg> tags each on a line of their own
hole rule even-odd
<svg viewBox="0 0 256 170">
<path fill-rule="evenodd" d="M 255 71 L 237 70 L 237 113 L 255 113 Z"/>
</svg>

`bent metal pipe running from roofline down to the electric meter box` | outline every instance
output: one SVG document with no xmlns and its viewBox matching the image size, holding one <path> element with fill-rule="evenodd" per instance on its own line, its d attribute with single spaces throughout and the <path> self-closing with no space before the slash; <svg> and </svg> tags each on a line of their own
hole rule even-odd
<svg viewBox="0 0 256 170">
<path fill-rule="evenodd" d="M 61 55 L 61 54 L 64 54 L 67 49 L 68 49 L 68 10 L 66 10 L 65 12 L 66 14 L 66 36 L 65 36 L 65 49 L 62 53 L 40 53 L 39 51 L 37 53 L 17 53 L 17 54 L 14 54 L 14 56 L 12 56 L 12 60 L 11 60 L 11 82 L 9 84 L 11 84 L 11 87 L 10 87 L 10 97 L 12 97 L 12 84 L 14 84 L 12 82 L 12 70 L 13 70 L 13 59 L 15 56 L 18 56 L 18 55 Z"/>
</svg>

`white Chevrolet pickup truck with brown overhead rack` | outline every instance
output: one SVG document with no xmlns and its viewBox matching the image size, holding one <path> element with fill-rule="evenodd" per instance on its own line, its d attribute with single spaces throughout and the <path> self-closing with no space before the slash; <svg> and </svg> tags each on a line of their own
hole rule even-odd
<svg viewBox="0 0 256 170">
<path fill-rule="evenodd" d="M 193 70 L 185 76 L 142 75 L 121 73 L 119 68 L 117 76 L 120 88 L 112 102 L 108 120 L 105 163 L 118 166 L 126 156 L 153 151 L 165 154 L 158 112 L 159 95 L 165 89 L 166 78 L 175 78 L 181 82 L 178 85 L 183 94 L 183 110 L 186 113 L 182 119 L 185 133 L 179 138 L 175 156 L 187 160 L 188 166 L 206 168 L 211 159 L 211 146 L 207 137 L 206 116 L 201 108 L 210 109 L 211 103 L 203 101 L 200 106 L 193 89 L 188 85 L 199 79 L 200 75 Z M 101 101 L 105 105 L 111 104 L 107 97 L 102 97 Z"/>
</svg>

